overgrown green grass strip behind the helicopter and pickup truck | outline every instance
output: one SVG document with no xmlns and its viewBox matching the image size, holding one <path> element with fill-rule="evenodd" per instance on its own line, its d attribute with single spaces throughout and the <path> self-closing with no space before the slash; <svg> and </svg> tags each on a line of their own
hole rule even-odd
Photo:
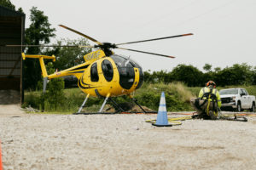
<svg viewBox="0 0 256 170">
<path fill-rule="evenodd" d="M 166 107 L 167 111 L 193 111 L 189 104 L 190 98 L 195 98 L 202 87 L 189 88 L 185 86 L 182 82 L 172 82 L 165 84 L 163 82 L 159 83 L 143 83 L 143 86 L 133 94 L 140 105 L 147 106 L 154 111 L 158 111 L 160 104 L 161 92 L 166 94 Z M 246 88 L 250 95 L 256 95 L 256 86 L 232 86 L 224 88 Z M 223 89 L 223 87 L 218 87 L 218 90 Z M 33 108 L 41 110 L 40 96 L 42 91 L 26 92 L 25 102 L 23 107 L 28 107 L 31 105 Z M 80 105 L 82 105 L 86 94 L 84 94 L 79 88 L 68 88 L 64 89 L 65 94 L 65 105 L 58 106 L 57 108 L 51 108 L 49 104 L 44 105 L 44 113 L 46 114 L 71 114 L 73 112 L 79 111 Z M 125 103 L 131 102 L 127 96 L 121 96 L 118 98 L 113 98 L 116 102 Z M 84 111 L 86 112 L 96 112 L 99 111 L 103 99 L 98 99 L 90 97 L 87 100 L 86 107 Z"/>
</svg>

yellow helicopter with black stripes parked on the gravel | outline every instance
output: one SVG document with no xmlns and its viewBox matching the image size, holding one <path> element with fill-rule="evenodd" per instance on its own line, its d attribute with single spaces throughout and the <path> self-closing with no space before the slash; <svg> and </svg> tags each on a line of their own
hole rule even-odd
<svg viewBox="0 0 256 170">
<path fill-rule="evenodd" d="M 84 63 L 81 65 L 76 65 L 68 68 L 64 71 L 55 72 L 54 74 L 48 75 L 44 65 L 44 59 L 53 59 L 55 61 L 55 56 L 46 56 L 40 54 L 24 54 L 22 53 L 22 58 L 38 58 L 43 72 L 44 77 L 44 92 L 46 89 L 46 84 L 49 79 L 57 77 L 74 76 L 78 78 L 78 86 L 86 95 L 83 105 L 79 108 L 78 113 L 82 111 L 87 99 L 91 96 L 105 98 L 102 107 L 98 113 L 102 113 L 104 106 L 106 105 L 108 99 L 113 102 L 113 105 L 119 108 L 120 111 L 124 111 L 116 102 L 111 99 L 112 97 L 117 97 L 121 95 L 128 95 L 137 105 L 137 100 L 133 99 L 131 93 L 137 88 L 140 88 L 143 84 L 143 69 L 134 60 L 127 58 L 125 56 L 113 54 L 112 48 L 119 48 L 119 45 L 138 43 L 138 42 L 149 42 L 156 41 L 166 38 L 173 37 L 184 37 L 193 35 L 192 33 L 177 35 L 172 37 L 160 37 L 154 39 L 148 39 L 137 42 L 125 42 L 114 44 L 110 42 L 98 42 L 96 39 L 86 36 L 79 31 L 75 31 L 67 26 L 59 25 L 66 28 L 69 31 L 73 31 L 80 36 L 90 39 L 92 42 L 96 42 L 94 46 L 76 46 L 80 48 L 99 48 L 90 54 L 84 55 Z M 22 45 L 26 47 L 52 47 L 50 45 Z M 74 46 L 72 46 L 74 47 Z M 130 48 L 119 48 L 124 50 L 130 50 L 138 53 L 144 54 L 154 54 L 145 51 L 139 51 Z M 174 58 L 169 55 L 164 54 L 154 54 L 167 58 Z M 141 105 L 139 107 L 143 110 Z M 143 110 L 143 112 L 146 112 Z"/>
</svg>

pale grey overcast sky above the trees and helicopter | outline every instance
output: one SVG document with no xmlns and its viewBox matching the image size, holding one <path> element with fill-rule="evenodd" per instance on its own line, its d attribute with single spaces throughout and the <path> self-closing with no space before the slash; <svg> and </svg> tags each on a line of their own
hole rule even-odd
<svg viewBox="0 0 256 170">
<path fill-rule="evenodd" d="M 179 65 L 194 65 L 201 71 L 206 63 L 212 68 L 247 63 L 256 65 L 255 0 L 11 0 L 26 13 L 30 25 L 32 6 L 43 10 L 56 28 L 57 39 L 80 36 L 62 24 L 95 38 L 99 42 L 131 42 L 185 33 L 155 42 L 123 45 L 175 59 L 115 49 L 116 54 L 131 56 L 144 71 L 172 71 Z M 91 44 L 94 44 L 91 42 Z"/>
</svg>

